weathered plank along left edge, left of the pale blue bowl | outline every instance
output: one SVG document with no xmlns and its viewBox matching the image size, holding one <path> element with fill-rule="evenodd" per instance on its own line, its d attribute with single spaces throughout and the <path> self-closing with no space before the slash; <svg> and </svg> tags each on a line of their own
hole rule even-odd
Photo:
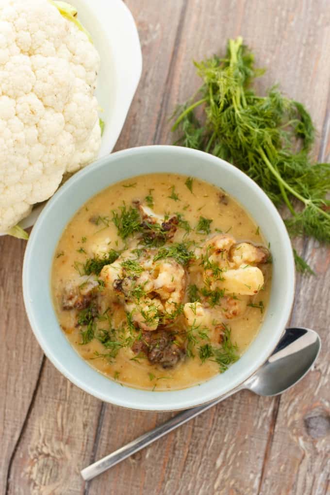
<svg viewBox="0 0 330 495">
<path fill-rule="evenodd" d="M 38 381 L 43 352 L 23 305 L 21 276 L 26 242 L 0 237 L 0 493 Z"/>
</svg>

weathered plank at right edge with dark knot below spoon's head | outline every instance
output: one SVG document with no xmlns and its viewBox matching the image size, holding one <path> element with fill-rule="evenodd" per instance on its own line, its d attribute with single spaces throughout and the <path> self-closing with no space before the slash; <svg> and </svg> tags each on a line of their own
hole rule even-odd
<svg viewBox="0 0 330 495">
<path fill-rule="evenodd" d="M 330 488 L 330 249 L 309 241 L 305 256 L 317 279 L 300 278 L 292 325 L 314 328 L 322 350 L 314 370 L 281 396 L 260 495 L 326 495 Z"/>
</svg>

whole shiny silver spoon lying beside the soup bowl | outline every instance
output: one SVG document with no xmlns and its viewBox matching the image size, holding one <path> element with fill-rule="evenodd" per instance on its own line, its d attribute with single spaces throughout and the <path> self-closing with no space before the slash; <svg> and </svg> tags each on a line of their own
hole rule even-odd
<svg viewBox="0 0 330 495">
<path fill-rule="evenodd" d="M 180 412 L 160 426 L 115 450 L 81 471 L 84 480 L 91 480 L 130 455 L 152 444 L 175 428 L 225 398 L 247 389 L 259 396 L 276 396 L 301 380 L 314 364 L 321 349 L 320 337 L 308 328 L 287 328 L 270 358 L 242 385 L 207 404 Z"/>
</svg>

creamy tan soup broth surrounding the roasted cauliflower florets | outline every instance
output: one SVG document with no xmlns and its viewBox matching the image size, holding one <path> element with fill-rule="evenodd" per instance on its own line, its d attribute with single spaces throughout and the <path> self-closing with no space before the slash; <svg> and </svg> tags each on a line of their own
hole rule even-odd
<svg viewBox="0 0 330 495">
<path fill-rule="evenodd" d="M 154 245 L 157 242 L 154 243 L 152 239 L 153 231 L 149 236 L 147 227 L 147 244 L 151 244 L 151 247 L 145 248 L 144 241 L 141 242 L 143 232 L 133 233 L 126 239 L 118 235 L 118 228 L 112 220 L 113 211 L 120 218 L 122 212 L 120 208 L 124 204 L 127 210 L 132 205 L 133 209 L 138 209 L 141 214 L 141 223 L 143 221 L 146 224 L 149 221 L 152 223 L 156 219 L 157 226 L 161 226 L 164 218 L 159 220 L 153 215 L 165 216 L 165 222 L 172 218 L 175 218 L 174 222 L 177 222 L 178 213 L 180 221 L 174 226 L 169 238 L 166 237 L 167 227 L 161 228 L 164 230 L 162 234 L 164 238 L 156 247 Z M 189 228 L 191 230 L 187 232 Z M 173 237 L 170 237 L 172 235 Z M 233 243 L 232 240 L 227 241 L 227 238 L 235 239 L 234 245 L 227 250 L 224 248 L 221 251 L 221 247 L 217 250 L 218 245 L 214 247 L 212 244 L 214 239 L 220 244 L 225 241 L 229 244 Z M 176 261 L 171 261 L 171 257 L 153 261 L 159 249 L 163 247 L 162 244 L 171 247 L 181 243 L 186 243 L 189 252 L 193 252 L 197 259 L 190 259 L 186 265 L 179 263 L 180 266 L 176 265 Z M 246 244 L 241 243 L 251 243 L 253 248 L 255 246 L 264 248 L 263 251 L 259 251 L 260 256 L 258 254 L 252 262 L 241 262 L 238 259 L 239 256 L 237 257 L 240 246 L 242 252 L 246 252 L 248 248 Z M 70 344 L 83 359 L 100 373 L 123 385 L 165 391 L 200 384 L 226 368 L 226 365 L 219 367 L 219 362 L 215 360 L 216 356 L 212 356 L 212 352 L 218 352 L 216 349 L 221 349 L 224 344 L 224 335 L 225 339 L 230 335 L 232 346 L 236 344 L 234 353 L 237 358 L 247 349 L 259 331 L 271 288 L 269 256 L 265 257 L 262 254 L 267 253 L 266 246 L 265 239 L 249 214 L 236 200 L 211 184 L 197 179 L 191 181 L 185 176 L 175 174 L 151 174 L 125 180 L 108 187 L 90 199 L 74 215 L 61 236 L 54 256 L 51 276 L 53 301 L 58 321 Z M 161 283 L 158 281 L 160 278 L 158 268 L 156 271 L 145 272 L 149 273 L 150 277 L 147 276 L 147 282 L 144 281 L 138 287 L 138 289 L 142 288 L 143 294 L 143 288 L 147 288 L 150 280 L 152 279 L 152 283 L 156 280 L 158 285 L 155 285 L 155 289 L 150 291 L 145 300 L 157 303 L 160 301 L 159 307 L 161 308 L 167 305 L 166 307 L 170 309 L 167 312 L 164 310 L 166 315 L 172 311 L 170 320 L 167 320 L 163 313 L 160 314 L 160 309 L 153 309 L 153 313 L 151 311 L 152 314 L 149 315 L 149 319 L 152 319 L 156 314 L 157 319 L 157 315 L 160 314 L 158 329 L 161 330 L 158 348 L 157 343 L 151 341 L 150 344 L 148 340 L 149 336 L 154 334 L 154 328 L 152 330 L 145 328 L 147 325 L 157 326 L 158 320 L 156 323 L 146 322 L 148 317 L 145 316 L 145 311 L 147 311 L 145 309 L 144 321 L 142 321 L 143 318 L 139 313 L 142 306 L 141 299 L 136 299 L 135 295 L 132 296 L 134 291 L 137 292 L 137 283 L 140 281 L 137 275 L 140 277 L 142 275 L 134 270 L 122 273 L 121 258 L 114 261 L 118 265 L 116 268 L 118 279 L 115 282 L 112 282 L 111 276 L 116 277 L 116 274 L 108 276 L 104 268 L 99 274 L 86 275 L 84 273 L 88 260 L 102 260 L 109 250 L 120 253 L 125 248 L 126 250 L 128 248 L 130 257 L 125 258 L 126 254 L 123 254 L 123 263 L 127 259 L 131 260 L 133 256 L 136 258 L 136 260 L 133 258 L 135 266 L 141 266 L 139 263 L 141 259 L 144 260 L 143 256 L 147 261 L 142 261 L 142 263 L 148 267 L 168 262 L 164 265 L 165 269 L 173 272 L 172 282 L 169 279 L 169 284 L 174 284 L 176 281 L 174 278 L 182 274 L 180 280 L 183 294 L 180 296 L 181 299 L 179 297 L 173 303 L 171 298 L 162 299 L 162 287 L 157 289 Z M 145 248 L 146 251 L 141 253 L 138 250 L 132 255 L 131 250 L 134 248 L 140 251 Z M 244 254 L 244 259 L 245 257 Z M 236 265 L 233 264 L 234 261 L 226 261 L 227 258 L 230 260 L 235 258 Z M 241 259 L 243 260 L 243 257 Z M 218 266 L 220 266 L 220 275 L 217 270 Z M 244 269 L 245 273 L 248 273 L 252 270 L 256 271 L 258 267 L 263 274 L 262 287 L 257 286 L 252 295 L 228 292 L 226 280 L 220 279 L 226 277 L 229 269 L 230 273 L 234 274 L 233 266 L 234 268 L 240 266 L 240 273 L 243 276 Z M 139 270 L 141 272 L 141 269 Z M 219 280 L 214 282 L 217 277 Z M 123 279 L 124 282 L 122 282 Z M 211 283 L 209 279 L 212 279 Z M 123 289 L 125 284 L 131 285 L 128 289 Z M 247 287 L 245 292 L 249 292 L 251 290 L 248 288 L 249 284 L 245 285 Z M 125 290 L 126 295 L 124 295 Z M 193 294 L 192 297 L 191 294 Z M 144 300 L 143 297 L 142 300 Z M 191 302 L 195 297 L 200 301 Z M 123 303 L 124 300 L 126 302 Z M 152 302 L 151 305 L 154 307 L 155 303 Z M 191 308 L 185 307 L 188 303 L 191 304 Z M 245 305 L 244 310 L 238 307 L 236 311 L 236 304 Z M 139 307 L 138 310 L 136 306 Z M 183 308 L 187 314 L 183 312 Z M 87 314 L 93 311 L 96 316 Z M 177 316 L 171 320 L 175 311 Z M 128 318 L 131 318 L 130 328 L 126 328 L 129 325 Z M 111 329 L 121 330 L 112 335 Z M 187 331 L 189 337 L 186 336 Z M 171 337 L 170 345 L 166 344 L 166 350 L 163 351 L 162 346 L 168 335 L 166 332 L 170 332 L 171 335 L 173 333 L 174 336 Z M 132 348 L 134 340 L 136 344 Z M 144 340 L 146 343 L 143 342 Z M 114 341 L 119 342 L 118 348 L 115 348 Z M 110 343 L 110 347 L 106 347 L 107 343 Z M 124 347 L 125 343 L 129 345 Z M 143 353 L 143 348 L 144 351 L 146 349 L 150 353 L 148 355 L 151 361 Z M 150 348 L 152 348 L 152 353 Z M 168 351 L 169 348 L 171 351 Z M 164 357 L 167 351 L 170 356 L 168 361 Z M 158 354 L 161 354 L 161 357 Z"/>
</svg>

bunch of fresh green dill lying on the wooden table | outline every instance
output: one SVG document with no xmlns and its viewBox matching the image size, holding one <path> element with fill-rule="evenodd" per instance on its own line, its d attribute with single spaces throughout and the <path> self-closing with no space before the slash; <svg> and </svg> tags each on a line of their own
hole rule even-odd
<svg viewBox="0 0 330 495">
<path fill-rule="evenodd" d="M 255 68 L 253 54 L 241 37 L 228 41 L 225 58 L 213 56 L 194 63 L 204 82 L 174 113 L 172 131 L 181 131 L 175 144 L 232 162 L 276 206 L 287 206 L 285 223 L 291 235 L 329 243 L 330 164 L 311 162 L 315 130 L 304 106 L 284 97 L 276 87 L 266 96 L 251 89 L 263 71 Z M 196 113 L 200 105 L 202 117 Z M 292 203 L 293 198 L 302 208 Z M 306 270 L 296 253 L 295 258 L 297 268 Z"/>
</svg>

